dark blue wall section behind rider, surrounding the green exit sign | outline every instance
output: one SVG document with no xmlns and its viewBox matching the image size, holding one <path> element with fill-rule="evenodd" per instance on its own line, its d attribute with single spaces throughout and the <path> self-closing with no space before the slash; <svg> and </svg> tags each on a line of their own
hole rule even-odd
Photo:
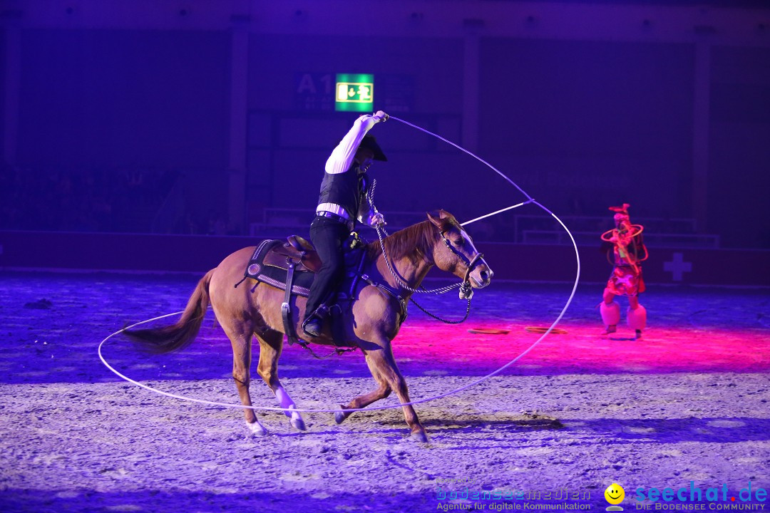
<svg viewBox="0 0 770 513">
<path fill-rule="evenodd" d="M 249 125 L 252 212 L 256 215 L 263 206 L 307 208 L 312 217 L 326 158 L 359 115 L 298 108 L 297 75 L 374 73 L 375 98 L 378 77 L 406 76 L 413 85 L 410 112 L 390 113 L 459 141 L 463 58 L 460 39 L 252 35 L 249 108 L 256 111 Z M 375 108 L 386 108 L 375 103 Z M 463 192 L 452 188 L 463 171 L 457 153 L 450 156 L 434 138 L 397 122 L 377 125 L 371 133 L 389 159 L 372 170 L 379 178 L 381 209 L 425 211 L 459 205 L 455 200 Z"/>
</svg>

